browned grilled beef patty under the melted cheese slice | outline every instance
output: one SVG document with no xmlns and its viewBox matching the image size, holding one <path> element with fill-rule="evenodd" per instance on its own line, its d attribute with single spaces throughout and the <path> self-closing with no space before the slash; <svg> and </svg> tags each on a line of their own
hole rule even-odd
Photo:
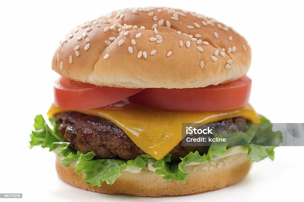
<svg viewBox="0 0 304 202">
<path fill-rule="evenodd" d="M 54 115 L 57 129 L 71 148 L 84 154 L 94 151 L 97 159 L 132 160 L 145 154 L 116 124 L 104 118 L 79 112 L 63 112 Z M 215 123 L 247 123 L 243 117 L 229 118 Z M 225 128 L 227 133 L 244 130 L 244 124 Z M 181 146 L 181 142 L 171 150 L 171 162 L 180 161 L 189 152 L 207 153 L 209 146 Z"/>
</svg>

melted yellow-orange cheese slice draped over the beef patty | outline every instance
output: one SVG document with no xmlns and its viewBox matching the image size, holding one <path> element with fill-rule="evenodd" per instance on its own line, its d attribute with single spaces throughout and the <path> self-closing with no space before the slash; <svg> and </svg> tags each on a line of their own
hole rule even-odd
<svg viewBox="0 0 304 202">
<path fill-rule="evenodd" d="M 51 105 L 47 115 L 71 111 Z M 160 160 L 182 140 L 182 123 L 212 123 L 227 118 L 244 117 L 260 123 L 250 104 L 228 111 L 169 111 L 150 108 L 127 100 L 95 109 L 72 110 L 105 118 L 119 126 L 130 139 L 155 159 Z"/>
</svg>

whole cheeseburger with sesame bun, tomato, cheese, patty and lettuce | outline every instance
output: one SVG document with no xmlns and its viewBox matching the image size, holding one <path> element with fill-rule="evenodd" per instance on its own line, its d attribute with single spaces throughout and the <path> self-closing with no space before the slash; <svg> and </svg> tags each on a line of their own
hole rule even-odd
<svg viewBox="0 0 304 202">
<path fill-rule="evenodd" d="M 243 146 L 183 146 L 181 128 L 268 122 L 248 104 L 250 52 L 231 27 L 179 9 L 128 8 L 85 22 L 54 53 L 61 76 L 30 147 L 49 148 L 62 180 L 98 193 L 172 196 L 237 183 L 253 161 L 273 159 L 275 145 L 256 145 L 244 138 L 254 131 L 236 124 L 225 134 Z"/>
</svg>

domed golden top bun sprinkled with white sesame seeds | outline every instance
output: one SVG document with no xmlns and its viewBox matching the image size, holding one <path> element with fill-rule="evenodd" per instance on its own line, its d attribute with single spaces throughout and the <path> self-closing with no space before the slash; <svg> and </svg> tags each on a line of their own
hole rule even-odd
<svg viewBox="0 0 304 202">
<path fill-rule="evenodd" d="M 70 31 L 52 68 L 98 86 L 199 88 L 242 77 L 250 62 L 247 41 L 213 18 L 171 8 L 128 8 Z"/>
</svg>

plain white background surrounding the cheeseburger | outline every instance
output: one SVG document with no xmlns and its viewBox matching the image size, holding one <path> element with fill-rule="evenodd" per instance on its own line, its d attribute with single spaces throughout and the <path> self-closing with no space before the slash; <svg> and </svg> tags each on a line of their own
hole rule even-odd
<svg viewBox="0 0 304 202">
<path fill-rule="evenodd" d="M 53 100 L 51 59 L 75 26 L 112 10 L 168 6 L 203 13 L 235 28 L 252 47 L 250 103 L 274 123 L 303 123 L 303 3 L 301 1 L 3 1 L 0 7 L 0 193 L 18 200 L 295 200 L 302 198 L 303 147 L 276 148 L 275 160 L 255 163 L 240 183 L 183 197 L 96 194 L 63 183 L 54 154 L 27 147 L 36 114 Z"/>
</svg>

